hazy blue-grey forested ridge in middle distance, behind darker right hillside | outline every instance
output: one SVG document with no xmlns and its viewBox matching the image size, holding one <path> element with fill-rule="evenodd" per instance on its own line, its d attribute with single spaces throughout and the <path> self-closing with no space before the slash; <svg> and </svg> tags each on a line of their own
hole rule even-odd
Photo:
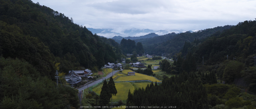
<svg viewBox="0 0 256 109">
<path fill-rule="evenodd" d="M 174 55 L 178 53 L 185 41 L 192 42 L 195 39 L 204 39 L 206 37 L 211 36 L 216 32 L 222 32 L 225 29 L 229 29 L 232 27 L 231 25 L 226 25 L 224 27 L 215 27 L 210 29 L 199 30 L 197 32 L 185 32 L 185 33 L 169 33 L 163 36 L 155 36 L 153 38 L 148 39 L 136 39 L 135 42 L 141 42 L 144 47 L 144 51 L 146 54 L 155 54 L 162 56 L 162 53 L 170 53 L 170 55 Z"/>
</svg>

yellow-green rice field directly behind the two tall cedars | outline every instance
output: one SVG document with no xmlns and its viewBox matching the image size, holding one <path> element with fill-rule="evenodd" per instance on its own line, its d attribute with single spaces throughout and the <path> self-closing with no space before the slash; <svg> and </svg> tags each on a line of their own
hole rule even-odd
<svg viewBox="0 0 256 109">
<path fill-rule="evenodd" d="M 102 86 L 103 84 L 98 85 L 97 87 L 93 88 L 93 91 L 97 94 L 101 94 Z M 133 92 L 134 90 L 134 86 L 129 82 L 115 83 L 115 86 L 117 94 L 116 96 L 112 96 L 113 101 L 127 100 L 129 89 L 131 90 L 131 92 Z"/>
</svg>

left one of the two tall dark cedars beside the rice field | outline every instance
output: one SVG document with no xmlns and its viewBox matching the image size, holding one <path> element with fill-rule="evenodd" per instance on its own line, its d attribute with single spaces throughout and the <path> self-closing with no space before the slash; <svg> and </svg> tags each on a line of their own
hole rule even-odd
<svg viewBox="0 0 256 109">
<path fill-rule="evenodd" d="M 109 91 L 109 86 L 107 81 L 104 80 L 103 86 L 101 88 L 101 94 L 99 95 L 99 104 L 101 106 L 106 106 L 109 104 L 111 98 L 111 93 Z"/>
</svg>

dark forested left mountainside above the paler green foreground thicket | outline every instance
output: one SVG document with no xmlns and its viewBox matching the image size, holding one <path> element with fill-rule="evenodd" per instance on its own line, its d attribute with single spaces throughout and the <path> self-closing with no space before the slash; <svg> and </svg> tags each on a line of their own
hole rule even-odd
<svg viewBox="0 0 256 109">
<path fill-rule="evenodd" d="M 60 62 L 60 71 L 67 73 L 80 66 L 96 70 L 121 59 L 121 53 L 63 13 L 30 0 L 0 3 L 0 53 L 5 58 L 25 59 L 48 76 L 53 62 Z"/>
</svg>

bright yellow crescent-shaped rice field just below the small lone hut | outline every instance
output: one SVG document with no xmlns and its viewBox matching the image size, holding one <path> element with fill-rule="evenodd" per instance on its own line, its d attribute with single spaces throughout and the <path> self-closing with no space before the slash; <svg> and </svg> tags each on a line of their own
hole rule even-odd
<svg viewBox="0 0 256 109">
<path fill-rule="evenodd" d="M 116 81 L 139 81 L 139 80 L 162 82 L 162 81 L 157 80 L 155 77 L 147 76 L 147 75 L 140 74 L 140 73 L 135 73 L 135 75 L 132 75 L 132 76 L 122 76 L 122 77 L 119 77 L 116 79 Z"/>
</svg>

